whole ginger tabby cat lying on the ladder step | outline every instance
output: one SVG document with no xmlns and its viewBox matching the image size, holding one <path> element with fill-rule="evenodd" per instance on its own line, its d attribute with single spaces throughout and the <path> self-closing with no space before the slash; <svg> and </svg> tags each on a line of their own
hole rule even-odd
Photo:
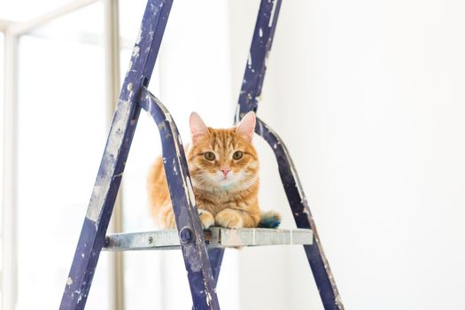
<svg viewBox="0 0 465 310">
<path fill-rule="evenodd" d="M 207 128 L 196 112 L 190 114 L 192 143 L 186 157 L 203 229 L 279 226 L 278 213 L 260 213 L 259 159 L 252 145 L 254 128 L 254 112 L 229 129 Z M 152 165 L 147 185 L 151 212 L 159 228 L 174 229 L 161 157 Z"/>
</svg>

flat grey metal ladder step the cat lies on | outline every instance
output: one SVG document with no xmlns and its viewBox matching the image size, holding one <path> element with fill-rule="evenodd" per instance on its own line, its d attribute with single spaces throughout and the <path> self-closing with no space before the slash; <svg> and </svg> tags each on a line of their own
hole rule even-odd
<svg viewBox="0 0 465 310">
<path fill-rule="evenodd" d="M 257 245 L 313 244 L 311 229 L 223 229 L 205 230 L 209 247 L 237 247 Z M 106 236 L 106 251 L 178 249 L 176 229 L 121 233 Z"/>
</svg>

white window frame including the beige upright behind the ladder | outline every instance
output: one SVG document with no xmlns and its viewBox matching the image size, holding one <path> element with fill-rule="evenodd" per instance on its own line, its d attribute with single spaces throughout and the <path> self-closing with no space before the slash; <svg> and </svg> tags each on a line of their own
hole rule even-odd
<svg viewBox="0 0 465 310">
<path fill-rule="evenodd" d="M 104 2 L 105 14 L 105 106 L 106 122 L 112 120 L 114 106 L 120 92 L 120 29 L 119 0 L 75 0 L 50 12 L 24 22 L 0 19 L 0 33 L 4 34 L 4 174 L 2 205 L 3 266 L 1 273 L 1 306 L 15 310 L 18 303 L 18 249 L 17 249 L 17 184 L 18 184 L 18 61 L 19 38 L 30 34 L 53 19 L 80 10 L 98 1 Z M 104 120 L 103 120 L 104 121 Z M 120 190 L 121 192 L 121 190 Z M 109 229 L 122 231 L 121 199 L 115 203 L 113 221 Z M 110 309 L 124 308 L 122 253 L 112 253 L 108 283 Z M 71 261 L 70 261 L 71 263 Z M 113 272 L 112 272 L 113 271 Z M 65 280 L 63 285 L 65 285 Z M 60 298 L 57 296 L 57 298 Z"/>
</svg>

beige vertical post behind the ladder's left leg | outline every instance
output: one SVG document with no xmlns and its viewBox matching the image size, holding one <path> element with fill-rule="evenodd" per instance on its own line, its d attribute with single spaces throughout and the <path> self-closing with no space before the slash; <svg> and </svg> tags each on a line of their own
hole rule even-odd
<svg viewBox="0 0 465 310">
<path fill-rule="evenodd" d="M 112 124 L 112 116 L 118 95 L 120 91 L 120 12 L 119 0 L 104 1 L 105 16 L 105 106 L 106 106 L 106 123 Z M 123 231 L 122 218 L 122 189 L 120 185 L 119 193 L 116 197 L 112 220 L 110 221 L 110 232 Z M 109 254 L 110 257 L 110 275 L 109 286 L 112 287 L 110 292 L 109 304 L 114 310 L 124 309 L 124 272 L 123 272 L 123 253 L 114 252 Z"/>
</svg>

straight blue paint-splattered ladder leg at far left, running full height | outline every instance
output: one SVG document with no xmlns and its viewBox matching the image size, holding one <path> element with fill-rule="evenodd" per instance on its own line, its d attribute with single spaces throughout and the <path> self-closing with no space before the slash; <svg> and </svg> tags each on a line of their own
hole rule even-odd
<svg viewBox="0 0 465 310">
<path fill-rule="evenodd" d="M 124 80 L 112 128 L 98 169 L 81 236 L 74 252 L 73 265 L 66 280 L 60 310 L 83 309 L 98 257 L 105 245 L 105 234 L 121 176 L 124 171 L 140 108 L 137 98 L 143 84 L 148 85 L 159 45 L 167 25 L 172 0 L 149 0 L 130 66 Z"/>
</svg>

